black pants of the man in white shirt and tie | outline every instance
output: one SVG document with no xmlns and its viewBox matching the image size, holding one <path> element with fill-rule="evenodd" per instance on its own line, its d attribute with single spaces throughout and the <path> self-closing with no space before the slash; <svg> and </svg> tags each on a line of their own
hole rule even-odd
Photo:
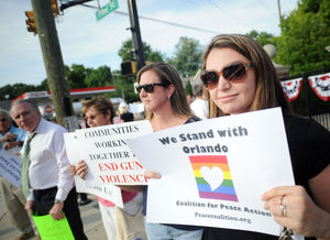
<svg viewBox="0 0 330 240">
<path fill-rule="evenodd" d="M 43 190 L 33 190 L 34 194 L 34 205 L 33 210 L 35 210 L 40 216 L 48 215 L 52 209 L 57 193 L 57 187 L 52 187 Z M 80 211 L 77 204 L 77 193 L 74 187 L 66 200 L 64 201 L 63 211 L 67 221 L 70 226 L 73 234 L 76 240 L 85 240 L 87 237 L 84 233 L 82 221 L 80 218 Z"/>
</svg>

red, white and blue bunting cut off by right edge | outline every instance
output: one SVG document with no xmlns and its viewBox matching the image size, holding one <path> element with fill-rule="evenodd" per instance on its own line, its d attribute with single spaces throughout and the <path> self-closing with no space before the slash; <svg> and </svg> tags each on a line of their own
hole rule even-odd
<svg viewBox="0 0 330 240">
<path fill-rule="evenodd" d="M 311 76 L 308 78 L 310 87 L 323 101 L 330 99 L 330 73 Z"/>
</svg>

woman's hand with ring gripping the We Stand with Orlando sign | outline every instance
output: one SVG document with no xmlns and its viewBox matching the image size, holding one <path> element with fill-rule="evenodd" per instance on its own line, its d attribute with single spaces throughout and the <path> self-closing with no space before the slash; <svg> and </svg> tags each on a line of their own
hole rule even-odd
<svg viewBox="0 0 330 240">
<path fill-rule="evenodd" d="M 330 215 L 301 186 L 275 187 L 263 194 L 264 208 L 275 221 L 305 237 L 329 238 Z M 327 232 L 328 231 L 328 232 Z"/>
</svg>

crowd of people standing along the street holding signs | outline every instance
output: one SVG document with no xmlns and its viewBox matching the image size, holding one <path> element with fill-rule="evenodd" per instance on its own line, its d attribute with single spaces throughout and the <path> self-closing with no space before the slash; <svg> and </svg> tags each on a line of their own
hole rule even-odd
<svg viewBox="0 0 330 240">
<path fill-rule="evenodd" d="M 196 99 L 189 106 L 182 79 L 173 66 L 156 63 L 140 69 L 136 91 L 153 131 L 207 118 L 280 107 L 296 185 L 275 187 L 260 197 L 265 201 L 264 208 L 283 227 L 284 234 L 299 233 L 305 239 L 330 239 L 330 132 L 314 120 L 293 112 L 274 65 L 263 47 L 245 35 L 215 36 L 205 51 L 200 79 L 200 85 L 195 87 Z M 81 160 L 77 166 L 69 166 L 63 141 L 66 130 L 42 119 L 32 102 L 18 100 L 13 102 L 10 112 L 18 127 L 26 131 L 24 138 L 25 132 L 11 127 L 10 116 L 0 111 L 0 141 L 1 144 L 6 142 L 2 148 L 23 145 L 22 188 L 12 187 L 6 179 L 0 179 L 2 193 L 13 196 L 15 208 L 20 209 L 22 216 L 21 220 L 15 220 L 13 216 L 12 223 L 22 231 L 22 236 L 34 234 L 24 211 L 25 206 L 28 212 L 50 214 L 54 219 L 66 217 L 75 239 L 87 239 L 73 177 L 78 174 L 85 178 L 88 174 L 87 164 Z M 85 101 L 82 112 L 90 128 L 113 124 L 113 106 L 105 97 Z M 122 112 L 117 121 L 132 120 L 132 113 Z M 8 127 L 3 128 L 7 121 Z M 146 171 L 145 177 L 162 176 Z M 276 236 L 220 226 L 210 228 L 145 222 L 147 186 L 118 187 L 121 188 L 123 209 L 99 197 L 109 240 L 278 239 Z M 11 200 L 3 200 L 11 211 Z"/>
</svg>

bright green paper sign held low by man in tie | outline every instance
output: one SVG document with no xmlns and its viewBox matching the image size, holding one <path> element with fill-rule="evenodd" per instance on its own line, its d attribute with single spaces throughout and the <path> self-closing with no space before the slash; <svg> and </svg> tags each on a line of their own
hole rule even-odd
<svg viewBox="0 0 330 240">
<path fill-rule="evenodd" d="M 66 218 L 54 220 L 51 215 L 32 216 L 43 240 L 75 240 Z"/>
</svg>

